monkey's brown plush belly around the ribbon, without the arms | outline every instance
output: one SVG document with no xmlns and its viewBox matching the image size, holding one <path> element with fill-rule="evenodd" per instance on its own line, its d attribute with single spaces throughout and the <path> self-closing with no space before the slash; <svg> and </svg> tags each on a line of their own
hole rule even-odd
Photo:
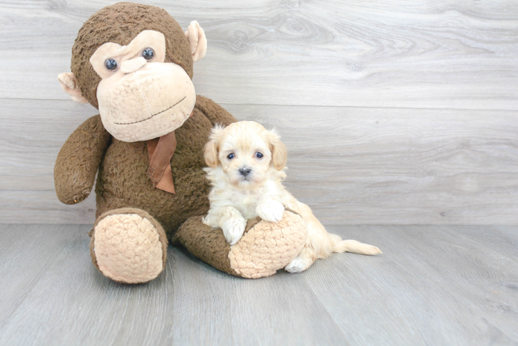
<svg viewBox="0 0 518 346">
<path fill-rule="evenodd" d="M 147 175 L 145 142 L 125 143 L 113 138 L 99 167 L 96 216 L 116 208 L 140 208 L 155 217 L 170 238 L 188 217 L 205 215 L 210 186 L 202 170 L 203 147 L 211 128 L 206 116 L 195 109 L 175 130 L 177 149 L 171 168 L 176 194 L 153 188 Z"/>
</svg>

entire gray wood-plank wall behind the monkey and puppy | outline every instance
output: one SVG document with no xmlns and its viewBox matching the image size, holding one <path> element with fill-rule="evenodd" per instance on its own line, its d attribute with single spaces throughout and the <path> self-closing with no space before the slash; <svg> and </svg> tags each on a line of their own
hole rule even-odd
<svg viewBox="0 0 518 346">
<path fill-rule="evenodd" d="M 94 221 L 53 163 L 96 109 L 57 74 L 116 1 L 0 0 L 0 221 Z M 276 127 L 324 224 L 518 224 L 518 1 L 164 1 L 208 38 L 197 93 Z"/>
</svg>

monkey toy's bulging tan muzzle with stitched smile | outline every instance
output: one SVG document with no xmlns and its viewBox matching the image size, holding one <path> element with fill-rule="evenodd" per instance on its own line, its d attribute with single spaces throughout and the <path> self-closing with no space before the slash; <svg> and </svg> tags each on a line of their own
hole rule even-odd
<svg viewBox="0 0 518 346">
<path fill-rule="evenodd" d="M 186 71 L 177 64 L 152 62 L 130 70 L 120 69 L 97 88 L 100 118 L 111 136 L 136 142 L 181 127 L 196 102 Z"/>
</svg>

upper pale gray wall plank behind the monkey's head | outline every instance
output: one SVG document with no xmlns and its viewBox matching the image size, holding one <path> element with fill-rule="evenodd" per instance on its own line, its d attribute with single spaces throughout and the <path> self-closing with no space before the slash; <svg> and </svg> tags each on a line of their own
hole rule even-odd
<svg viewBox="0 0 518 346">
<path fill-rule="evenodd" d="M 65 100 L 75 36 L 114 2 L 3 0 L 0 98 Z M 199 21 L 195 86 L 217 102 L 518 109 L 516 1 L 140 2 Z"/>
</svg>

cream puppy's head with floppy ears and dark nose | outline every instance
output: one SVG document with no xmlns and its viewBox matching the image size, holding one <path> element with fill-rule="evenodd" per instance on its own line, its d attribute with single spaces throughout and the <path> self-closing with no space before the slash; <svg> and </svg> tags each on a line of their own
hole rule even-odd
<svg viewBox="0 0 518 346">
<path fill-rule="evenodd" d="M 272 171 L 286 165 L 287 151 L 275 131 L 258 122 L 234 122 L 216 126 L 204 151 L 209 167 L 221 165 L 226 179 L 235 188 L 253 190 L 269 179 Z"/>
</svg>

